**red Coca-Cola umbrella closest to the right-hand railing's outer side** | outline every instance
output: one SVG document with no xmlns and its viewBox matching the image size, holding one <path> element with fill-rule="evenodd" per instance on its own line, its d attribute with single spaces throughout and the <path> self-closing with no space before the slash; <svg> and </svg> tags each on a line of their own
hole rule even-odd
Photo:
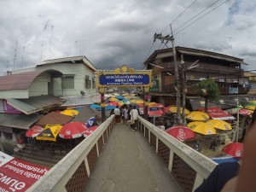
<svg viewBox="0 0 256 192">
<path fill-rule="evenodd" d="M 170 136 L 177 138 L 177 140 L 184 142 L 187 139 L 194 138 L 195 132 L 186 126 L 173 126 L 166 130 Z"/>
</svg>

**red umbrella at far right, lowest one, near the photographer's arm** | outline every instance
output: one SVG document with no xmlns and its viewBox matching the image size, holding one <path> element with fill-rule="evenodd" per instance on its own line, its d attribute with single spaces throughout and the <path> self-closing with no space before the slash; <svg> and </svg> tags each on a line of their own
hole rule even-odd
<svg viewBox="0 0 256 192">
<path fill-rule="evenodd" d="M 241 157 L 243 154 L 243 143 L 230 143 L 222 148 L 224 154 L 229 154 L 233 157 Z"/>
</svg>

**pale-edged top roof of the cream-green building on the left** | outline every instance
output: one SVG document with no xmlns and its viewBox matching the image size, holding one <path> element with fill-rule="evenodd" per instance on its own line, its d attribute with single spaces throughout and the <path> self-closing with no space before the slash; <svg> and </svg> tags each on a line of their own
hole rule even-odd
<svg viewBox="0 0 256 192">
<path fill-rule="evenodd" d="M 58 58 L 54 60 L 46 60 L 38 64 L 37 67 L 40 67 L 46 64 L 61 63 L 61 62 L 74 63 L 75 61 L 83 61 L 87 67 L 90 67 L 90 69 L 92 69 L 93 71 L 96 71 L 96 67 L 94 67 L 93 64 L 85 56 L 71 56 L 71 57 Z"/>
</svg>

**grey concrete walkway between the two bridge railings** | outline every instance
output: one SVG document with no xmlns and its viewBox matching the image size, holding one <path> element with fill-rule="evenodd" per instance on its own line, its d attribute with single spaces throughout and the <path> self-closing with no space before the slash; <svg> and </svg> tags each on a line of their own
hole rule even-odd
<svg viewBox="0 0 256 192">
<path fill-rule="evenodd" d="M 183 191 L 143 134 L 115 125 L 84 191 Z"/>
</svg>

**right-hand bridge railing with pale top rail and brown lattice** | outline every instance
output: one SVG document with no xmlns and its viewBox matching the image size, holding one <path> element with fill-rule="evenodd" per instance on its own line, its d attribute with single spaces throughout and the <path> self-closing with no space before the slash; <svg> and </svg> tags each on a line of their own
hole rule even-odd
<svg viewBox="0 0 256 192">
<path fill-rule="evenodd" d="M 194 191 L 217 165 L 142 117 L 138 119 L 138 129 L 155 148 L 155 152 L 185 192 Z"/>
</svg>

